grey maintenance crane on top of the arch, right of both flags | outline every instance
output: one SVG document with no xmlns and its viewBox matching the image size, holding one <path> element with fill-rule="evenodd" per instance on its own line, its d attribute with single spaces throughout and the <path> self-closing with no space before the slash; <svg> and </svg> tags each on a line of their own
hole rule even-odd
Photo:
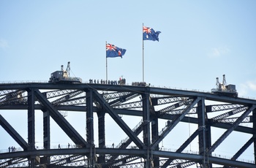
<svg viewBox="0 0 256 168">
<path fill-rule="evenodd" d="M 227 85 L 225 75 L 223 75 L 222 83 L 219 83 L 219 77 L 216 77 L 216 80 L 217 87 L 211 89 L 211 93 L 216 93 L 219 96 L 238 96 L 238 92 L 236 91 L 236 85 Z"/>
</svg>

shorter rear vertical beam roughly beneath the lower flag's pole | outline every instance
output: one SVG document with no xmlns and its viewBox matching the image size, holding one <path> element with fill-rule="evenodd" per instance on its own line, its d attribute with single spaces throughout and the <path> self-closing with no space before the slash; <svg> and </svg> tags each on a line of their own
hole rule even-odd
<svg viewBox="0 0 256 168">
<path fill-rule="evenodd" d="M 99 126 L 99 148 L 105 148 L 105 111 L 97 112 Z M 99 154 L 98 163 L 105 164 L 105 154 Z"/>
</svg>

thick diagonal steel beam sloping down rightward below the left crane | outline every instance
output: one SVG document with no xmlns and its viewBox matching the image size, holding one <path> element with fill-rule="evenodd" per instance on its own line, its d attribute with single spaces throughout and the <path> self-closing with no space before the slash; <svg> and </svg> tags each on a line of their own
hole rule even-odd
<svg viewBox="0 0 256 168">
<path fill-rule="evenodd" d="M 76 131 L 70 125 L 70 123 L 61 115 L 61 113 L 56 110 L 55 107 L 53 107 L 53 104 L 50 104 L 48 99 L 46 99 L 45 96 L 38 89 L 35 89 L 34 92 L 42 106 L 49 110 L 50 116 L 53 118 L 53 120 L 61 127 L 61 129 L 76 145 L 81 145 L 82 147 L 88 145 L 88 142 L 86 142 L 83 137 L 80 136 L 78 131 Z"/>
</svg>

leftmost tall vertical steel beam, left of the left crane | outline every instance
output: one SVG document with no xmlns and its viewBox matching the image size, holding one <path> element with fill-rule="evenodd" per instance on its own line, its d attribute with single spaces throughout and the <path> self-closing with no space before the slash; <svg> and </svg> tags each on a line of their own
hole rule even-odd
<svg viewBox="0 0 256 168">
<path fill-rule="evenodd" d="M 29 143 L 29 150 L 35 149 L 35 118 L 34 118 L 34 88 L 28 89 L 28 143 Z M 34 167 L 34 157 L 29 158 L 30 167 Z"/>
</svg>

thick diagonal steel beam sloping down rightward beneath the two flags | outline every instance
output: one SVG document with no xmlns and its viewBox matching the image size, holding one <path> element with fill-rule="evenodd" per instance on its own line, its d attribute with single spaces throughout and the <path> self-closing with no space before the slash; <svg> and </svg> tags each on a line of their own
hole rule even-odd
<svg viewBox="0 0 256 168">
<path fill-rule="evenodd" d="M 129 126 L 127 126 L 126 123 L 119 117 L 119 115 L 114 112 L 113 108 L 110 107 L 108 102 L 105 102 L 105 99 L 103 99 L 102 95 L 100 95 L 97 91 L 94 92 L 94 98 L 99 102 L 99 104 L 102 105 L 102 107 L 108 112 L 108 114 L 113 118 L 114 121 L 120 126 L 121 129 L 128 135 L 128 137 L 138 146 L 138 148 L 143 149 L 146 148 L 146 145 L 143 144 L 143 142 L 140 141 L 140 139 L 136 136 L 136 134 L 129 129 Z"/>
</svg>

